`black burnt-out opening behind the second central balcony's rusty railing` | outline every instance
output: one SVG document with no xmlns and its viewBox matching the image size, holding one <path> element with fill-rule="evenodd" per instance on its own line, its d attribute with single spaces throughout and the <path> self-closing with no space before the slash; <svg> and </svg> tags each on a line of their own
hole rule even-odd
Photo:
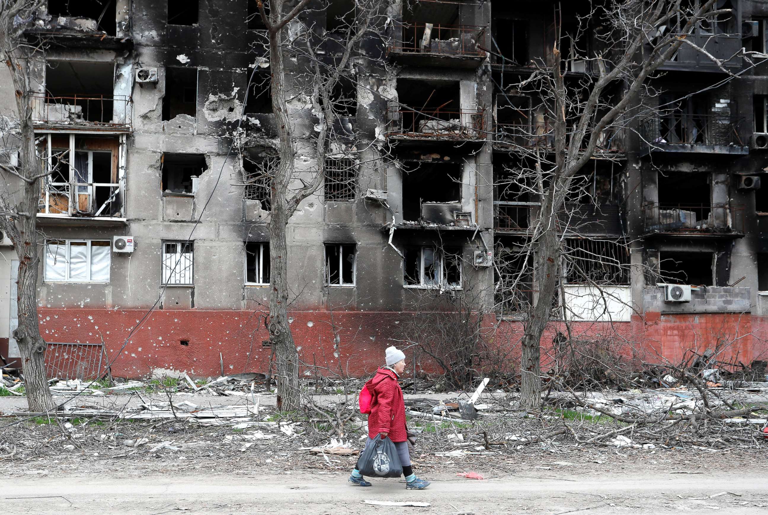
<svg viewBox="0 0 768 515">
<path fill-rule="evenodd" d="M 398 79 L 397 93 L 402 133 L 449 134 L 468 123 L 458 81 Z"/>
</svg>

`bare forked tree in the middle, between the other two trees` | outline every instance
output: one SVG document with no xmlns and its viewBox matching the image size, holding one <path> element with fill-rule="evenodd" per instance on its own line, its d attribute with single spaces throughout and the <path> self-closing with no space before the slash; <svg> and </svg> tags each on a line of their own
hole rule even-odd
<svg viewBox="0 0 768 515">
<path fill-rule="evenodd" d="M 325 3 L 325 2 L 323 2 Z M 326 157 L 344 154 L 355 140 L 354 134 L 340 134 L 340 109 L 344 99 L 336 96 L 339 81 L 354 75 L 352 60 L 359 41 L 379 23 L 385 0 L 359 0 L 352 7 L 353 21 L 346 23 L 342 38 L 333 40 L 333 54 L 321 58 L 318 49 L 330 41 L 322 28 L 308 25 L 303 13 L 309 11 L 310 0 L 271 0 L 269 9 L 261 0 L 257 5 L 269 36 L 270 86 L 272 107 L 279 142 L 279 162 L 270 177 L 270 342 L 276 348 L 277 398 L 281 409 L 299 408 L 299 367 L 296 345 L 288 325 L 287 309 L 290 290 L 287 280 L 286 226 L 300 203 L 323 186 L 326 177 Z M 293 6 L 293 7 L 292 7 Z M 326 5 L 323 5 L 326 7 Z M 268 12 L 267 12 L 268 11 Z M 349 13 L 347 13 L 349 14 Z M 330 45 L 329 45 L 330 48 Z M 306 66 L 298 74 L 286 73 L 286 54 L 298 56 Z M 290 75 L 290 76 L 289 76 Z M 301 104 L 296 107 L 296 104 Z M 317 117 L 312 152 L 316 166 L 312 170 L 297 170 L 296 111 Z M 359 147 L 356 151 L 359 151 Z"/>
</svg>

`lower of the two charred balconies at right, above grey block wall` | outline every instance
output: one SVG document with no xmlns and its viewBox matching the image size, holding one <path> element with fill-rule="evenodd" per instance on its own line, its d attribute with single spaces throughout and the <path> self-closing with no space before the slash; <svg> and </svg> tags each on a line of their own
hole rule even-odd
<svg viewBox="0 0 768 515">
<path fill-rule="evenodd" d="M 744 236 L 744 206 L 728 204 L 643 205 L 644 237 L 688 236 L 736 239 Z"/>
</svg>

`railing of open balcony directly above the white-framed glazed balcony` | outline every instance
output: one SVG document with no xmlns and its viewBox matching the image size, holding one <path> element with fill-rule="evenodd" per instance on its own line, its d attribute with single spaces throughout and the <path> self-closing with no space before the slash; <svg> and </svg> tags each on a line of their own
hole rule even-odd
<svg viewBox="0 0 768 515">
<path fill-rule="evenodd" d="M 36 93 L 32 95 L 32 121 L 55 126 L 130 129 L 131 105 L 131 97 L 124 95 L 51 97 Z"/>
</svg>

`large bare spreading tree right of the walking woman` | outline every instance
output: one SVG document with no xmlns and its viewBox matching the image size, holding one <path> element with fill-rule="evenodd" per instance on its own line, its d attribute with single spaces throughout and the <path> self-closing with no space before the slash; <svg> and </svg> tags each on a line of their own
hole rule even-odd
<svg viewBox="0 0 768 515">
<path fill-rule="evenodd" d="M 563 235 L 569 224 L 571 233 L 579 233 L 574 213 L 565 204 L 574 195 L 584 194 L 580 182 L 585 165 L 601 149 L 607 133 L 626 130 L 631 120 L 637 120 L 644 108 L 638 105 L 639 99 L 647 92 L 649 79 L 681 45 L 694 46 L 725 69 L 687 40 L 703 20 L 730 15 L 728 9 L 714 9 L 715 4 L 716 0 L 588 2 L 590 9 L 580 13 L 576 31 L 568 33 L 561 19 L 554 20 L 551 54 L 532 61 L 535 71 L 507 89 L 540 101 L 531 109 L 537 120 L 528 120 L 525 129 L 511 134 L 511 145 L 524 157 L 510 170 L 508 180 L 540 205 L 538 219 L 528 230 L 528 243 L 515 257 L 530 264 L 534 279 L 528 280 L 538 293 L 535 299 L 531 296 L 524 322 L 521 404 L 525 407 L 541 403 L 540 341 L 561 299 L 563 262 L 568 262 Z M 555 18 L 558 15 L 556 11 Z M 598 43 L 593 55 L 583 55 L 580 48 L 588 38 Z M 580 80 L 567 77 L 577 58 L 591 69 Z M 600 256 L 594 259 L 599 261 Z M 527 273 L 521 269 L 512 274 L 513 282 L 525 282 Z"/>
</svg>

